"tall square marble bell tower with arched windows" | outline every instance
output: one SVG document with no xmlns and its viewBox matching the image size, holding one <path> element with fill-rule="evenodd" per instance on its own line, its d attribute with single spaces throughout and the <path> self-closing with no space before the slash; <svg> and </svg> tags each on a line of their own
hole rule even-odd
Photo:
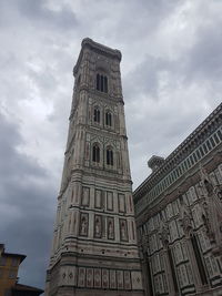
<svg viewBox="0 0 222 296">
<path fill-rule="evenodd" d="M 82 41 L 47 295 L 143 295 L 120 61 Z"/>
</svg>

